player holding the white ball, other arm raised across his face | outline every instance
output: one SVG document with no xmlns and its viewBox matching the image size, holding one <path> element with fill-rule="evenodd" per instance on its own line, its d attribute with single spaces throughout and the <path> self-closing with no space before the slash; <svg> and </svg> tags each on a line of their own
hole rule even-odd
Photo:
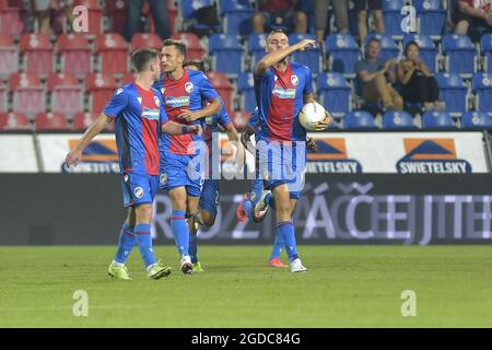
<svg viewBox="0 0 492 350">
<path fill-rule="evenodd" d="M 260 147 L 257 154 L 261 155 L 260 175 L 265 177 L 265 188 L 273 194 L 276 235 L 283 238 L 291 271 L 303 272 L 307 269 L 302 265 L 297 255 L 291 218 L 298 200 L 298 183 L 305 167 L 306 130 L 298 121 L 298 113 L 304 103 L 314 102 L 313 78 L 309 68 L 289 62 L 288 57 L 294 51 L 313 47 L 315 40 L 303 39 L 289 46 L 285 33 L 274 31 L 267 36 L 266 42 L 267 55 L 254 70 L 260 124 L 259 143 L 268 148 L 267 152 L 261 152 L 261 144 L 257 144 L 257 149 Z M 327 113 L 325 120 L 318 122 L 315 129 L 326 130 L 331 121 L 331 117 Z M 271 150 L 277 153 L 272 155 L 272 159 L 268 154 Z M 289 153 L 292 163 L 285 156 Z M 267 171 L 265 171 L 266 168 Z M 271 173 L 278 173 L 279 168 L 281 174 L 271 176 Z M 294 180 L 288 174 L 292 170 L 295 172 Z"/>
</svg>

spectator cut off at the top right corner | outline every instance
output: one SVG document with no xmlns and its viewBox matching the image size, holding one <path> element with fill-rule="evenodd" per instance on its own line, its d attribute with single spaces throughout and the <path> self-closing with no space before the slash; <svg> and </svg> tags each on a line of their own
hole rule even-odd
<svg viewBox="0 0 492 350">
<path fill-rule="evenodd" d="M 458 0 L 453 13 L 456 34 L 468 34 L 470 27 L 492 30 L 492 0 Z"/>
</svg>

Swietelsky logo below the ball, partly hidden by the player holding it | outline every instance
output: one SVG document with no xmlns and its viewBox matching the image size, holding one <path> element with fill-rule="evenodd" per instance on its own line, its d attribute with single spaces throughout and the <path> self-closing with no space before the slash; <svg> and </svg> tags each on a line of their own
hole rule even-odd
<svg viewBox="0 0 492 350">
<path fill-rule="evenodd" d="M 349 156 L 344 138 L 315 139 L 315 142 L 316 153 L 307 153 L 308 173 L 362 173 L 361 163 Z"/>
</svg>

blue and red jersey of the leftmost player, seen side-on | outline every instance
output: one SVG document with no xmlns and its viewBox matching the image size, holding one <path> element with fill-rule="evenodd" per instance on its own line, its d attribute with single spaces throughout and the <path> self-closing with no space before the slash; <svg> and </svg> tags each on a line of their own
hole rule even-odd
<svg viewBox="0 0 492 350">
<path fill-rule="evenodd" d="M 115 92 L 104 114 L 115 118 L 121 173 L 159 175 L 157 141 L 167 121 L 160 92 L 130 83 Z"/>
</svg>

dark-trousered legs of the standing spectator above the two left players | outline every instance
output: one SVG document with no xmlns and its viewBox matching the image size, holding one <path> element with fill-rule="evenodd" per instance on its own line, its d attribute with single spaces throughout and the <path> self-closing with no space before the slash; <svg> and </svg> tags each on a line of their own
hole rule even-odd
<svg viewBox="0 0 492 350">
<path fill-rule="evenodd" d="M 142 8 L 145 0 L 128 1 L 128 20 L 125 27 L 125 38 L 131 42 L 131 37 L 136 33 L 142 32 Z M 167 11 L 167 1 L 164 0 L 148 0 L 151 7 L 152 18 L 155 23 L 155 32 L 162 39 L 171 36 L 171 20 Z"/>
</svg>

